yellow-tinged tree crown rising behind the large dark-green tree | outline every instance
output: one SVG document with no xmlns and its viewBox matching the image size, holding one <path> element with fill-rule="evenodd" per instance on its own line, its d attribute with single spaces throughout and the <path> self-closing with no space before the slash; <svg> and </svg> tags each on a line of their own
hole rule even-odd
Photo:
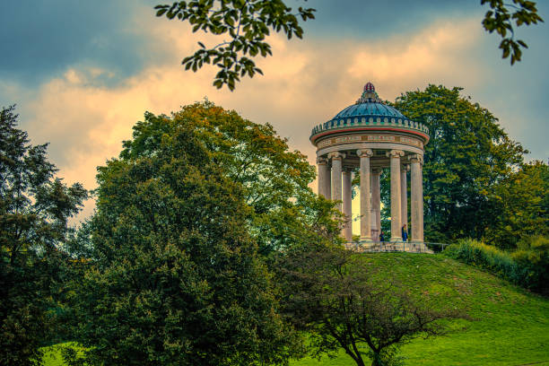
<svg viewBox="0 0 549 366">
<path fill-rule="evenodd" d="M 326 217 L 331 204 L 320 204 L 309 188 L 315 168 L 307 157 L 289 151 L 287 141 L 276 135 L 273 126 L 253 123 L 210 102 L 186 106 L 171 117 L 146 113 L 121 156 L 154 155 L 162 137 L 182 127 L 193 129 L 224 174 L 243 187 L 244 199 L 252 209 L 248 218 L 251 234 L 262 254 L 300 240 L 304 234 L 299 232 L 298 220 L 303 225 L 318 220 L 327 223 L 319 217 Z"/>
</svg>

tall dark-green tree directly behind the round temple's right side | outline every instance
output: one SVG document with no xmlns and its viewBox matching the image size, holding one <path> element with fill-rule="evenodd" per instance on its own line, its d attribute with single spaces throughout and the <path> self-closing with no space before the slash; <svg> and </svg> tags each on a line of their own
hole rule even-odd
<svg viewBox="0 0 549 366">
<path fill-rule="evenodd" d="M 429 85 L 424 91 L 405 92 L 394 104 L 430 127 L 423 164 L 429 241 L 483 238 L 498 214 L 493 212 L 493 192 L 527 153 L 489 110 L 461 97 L 461 90 Z"/>
</svg>

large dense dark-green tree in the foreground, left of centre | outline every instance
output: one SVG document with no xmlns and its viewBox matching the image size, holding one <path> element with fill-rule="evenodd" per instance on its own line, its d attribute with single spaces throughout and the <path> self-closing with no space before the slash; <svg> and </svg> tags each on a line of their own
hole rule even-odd
<svg viewBox="0 0 549 366">
<path fill-rule="evenodd" d="M 286 364 L 292 333 L 248 235 L 247 192 L 203 140 L 209 119 L 178 118 L 145 115 L 99 169 L 92 256 L 74 283 L 85 361 Z"/>
</svg>

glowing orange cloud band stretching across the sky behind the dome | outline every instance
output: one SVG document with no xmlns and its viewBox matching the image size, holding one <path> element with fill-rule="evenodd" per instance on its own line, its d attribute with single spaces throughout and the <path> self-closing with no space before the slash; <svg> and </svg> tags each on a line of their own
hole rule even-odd
<svg viewBox="0 0 549 366">
<path fill-rule="evenodd" d="M 121 142 L 130 138 L 131 127 L 145 110 L 170 113 L 207 96 L 224 108 L 236 109 L 244 118 L 271 123 L 314 164 L 310 129 L 352 104 L 369 80 L 376 84 L 380 97 L 388 100 L 427 83 L 481 83 L 482 70 L 466 56 L 482 34 L 476 23 L 476 19 L 440 22 L 417 34 L 374 43 L 312 38 L 288 42 L 274 35 L 269 39 L 274 57 L 257 61 L 265 76 L 245 79 L 235 92 L 228 92 L 212 86 L 215 67 L 198 73 L 183 70 L 181 58 L 196 48 L 196 36 L 189 35 L 187 27 L 151 22 L 144 27 L 151 27 L 159 47 L 172 48 L 169 59 L 112 88 L 93 83 L 95 77 L 109 76 L 109 70 L 67 70 L 63 77 L 43 85 L 29 106 L 34 115 L 30 136 L 51 142 L 52 160 L 60 176 L 92 188 L 95 167 L 118 155 Z M 474 26 L 479 30 L 471 32 Z M 208 44 L 217 42 L 211 36 L 201 39 Z M 447 76 L 449 69 L 454 73 Z M 85 213 L 91 212 L 92 203 Z"/>
</svg>

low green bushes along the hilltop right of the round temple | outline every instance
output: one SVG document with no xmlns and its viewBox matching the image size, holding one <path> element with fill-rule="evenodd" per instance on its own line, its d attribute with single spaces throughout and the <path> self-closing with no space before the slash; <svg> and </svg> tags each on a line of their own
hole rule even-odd
<svg viewBox="0 0 549 366">
<path fill-rule="evenodd" d="M 549 239 L 535 237 L 519 243 L 514 253 L 477 240 L 458 240 L 444 253 L 468 265 L 480 267 L 528 290 L 548 293 Z"/>
</svg>

